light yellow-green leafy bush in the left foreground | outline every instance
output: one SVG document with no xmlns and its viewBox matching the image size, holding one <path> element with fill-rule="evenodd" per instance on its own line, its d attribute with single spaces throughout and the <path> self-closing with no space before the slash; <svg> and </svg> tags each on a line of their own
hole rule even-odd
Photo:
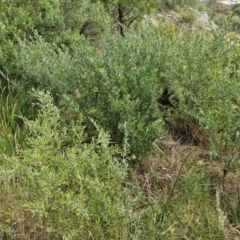
<svg viewBox="0 0 240 240">
<path fill-rule="evenodd" d="M 107 133 L 99 129 L 96 139 L 84 143 L 80 121 L 67 129 L 50 95 L 36 96 L 38 116 L 25 119 L 27 146 L 0 167 L 1 238 L 122 237 L 128 215 L 122 187 L 126 162 L 118 161 Z"/>
</svg>

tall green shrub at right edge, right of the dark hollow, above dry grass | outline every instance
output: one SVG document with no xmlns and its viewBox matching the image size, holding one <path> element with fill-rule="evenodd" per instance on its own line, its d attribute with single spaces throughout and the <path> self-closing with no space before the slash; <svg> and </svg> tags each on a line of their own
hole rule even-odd
<svg viewBox="0 0 240 240">
<path fill-rule="evenodd" d="M 211 154 L 228 155 L 238 148 L 237 45 L 230 44 L 223 29 L 213 32 L 211 39 L 186 33 L 172 45 L 165 78 L 182 99 L 173 114 L 179 117 L 178 130 L 184 129 L 198 144 L 211 145 Z"/>
</svg>

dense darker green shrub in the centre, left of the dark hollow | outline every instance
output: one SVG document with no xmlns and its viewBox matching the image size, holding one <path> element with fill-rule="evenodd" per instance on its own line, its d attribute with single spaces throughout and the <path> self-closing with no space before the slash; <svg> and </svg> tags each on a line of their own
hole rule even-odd
<svg viewBox="0 0 240 240">
<path fill-rule="evenodd" d="M 150 46 L 132 34 L 103 39 L 104 51 L 90 68 L 91 78 L 82 79 L 78 100 L 80 109 L 108 129 L 114 142 L 122 145 L 127 132 L 137 157 L 146 155 L 163 132 L 157 105 L 159 59 Z"/>
</svg>

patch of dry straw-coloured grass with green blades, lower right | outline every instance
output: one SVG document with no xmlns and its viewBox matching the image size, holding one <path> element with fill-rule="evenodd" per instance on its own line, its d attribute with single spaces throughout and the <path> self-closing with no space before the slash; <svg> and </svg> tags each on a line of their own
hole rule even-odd
<svg viewBox="0 0 240 240">
<path fill-rule="evenodd" d="M 164 208 L 172 194 L 163 236 L 240 239 L 240 170 L 223 176 L 222 164 L 211 161 L 204 148 L 184 145 L 170 134 L 159 142 L 158 153 L 144 159 L 137 178 L 158 207 Z"/>
</svg>

